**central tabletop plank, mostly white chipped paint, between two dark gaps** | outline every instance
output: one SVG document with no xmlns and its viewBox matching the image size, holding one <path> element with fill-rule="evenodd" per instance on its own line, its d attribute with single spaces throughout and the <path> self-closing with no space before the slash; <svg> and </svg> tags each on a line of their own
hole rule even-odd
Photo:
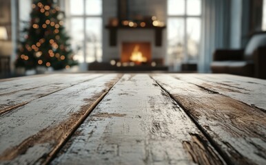
<svg viewBox="0 0 266 165">
<path fill-rule="evenodd" d="M 225 164 L 147 74 L 124 75 L 51 164 Z"/>
</svg>

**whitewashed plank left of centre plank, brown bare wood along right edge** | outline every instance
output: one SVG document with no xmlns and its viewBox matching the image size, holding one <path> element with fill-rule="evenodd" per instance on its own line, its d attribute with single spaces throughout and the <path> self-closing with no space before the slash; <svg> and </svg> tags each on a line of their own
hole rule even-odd
<svg viewBox="0 0 266 165">
<path fill-rule="evenodd" d="M 106 74 L 0 115 L 0 164 L 46 162 L 117 80 Z"/>
</svg>

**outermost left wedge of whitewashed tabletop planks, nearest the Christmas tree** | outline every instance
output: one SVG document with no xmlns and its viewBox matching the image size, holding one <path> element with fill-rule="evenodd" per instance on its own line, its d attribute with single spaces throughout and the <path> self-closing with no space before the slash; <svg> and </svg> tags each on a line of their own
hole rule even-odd
<svg viewBox="0 0 266 165">
<path fill-rule="evenodd" d="M 52 74 L 0 82 L 0 114 L 102 74 Z"/>
</svg>

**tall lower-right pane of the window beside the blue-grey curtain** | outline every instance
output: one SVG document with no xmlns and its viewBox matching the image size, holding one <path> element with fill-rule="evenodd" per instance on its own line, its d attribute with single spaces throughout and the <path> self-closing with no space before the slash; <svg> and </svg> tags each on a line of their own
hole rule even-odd
<svg viewBox="0 0 266 165">
<path fill-rule="evenodd" d="M 189 61 L 198 58 L 198 47 L 201 38 L 201 19 L 187 19 L 187 58 Z"/>
</svg>

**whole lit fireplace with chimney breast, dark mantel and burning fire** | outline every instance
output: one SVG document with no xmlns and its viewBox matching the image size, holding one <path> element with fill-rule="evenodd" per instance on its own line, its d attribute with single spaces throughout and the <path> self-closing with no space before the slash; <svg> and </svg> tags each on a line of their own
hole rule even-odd
<svg viewBox="0 0 266 165">
<path fill-rule="evenodd" d="M 163 10 L 167 8 L 167 3 L 150 3 L 147 0 L 114 1 L 103 3 L 103 8 L 108 13 L 103 14 L 105 28 L 102 63 L 105 65 L 99 69 L 167 69 L 167 17 Z M 135 56 L 132 57 L 132 54 Z M 107 68 L 107 65 L 111 67 Z"/>
</svg>

